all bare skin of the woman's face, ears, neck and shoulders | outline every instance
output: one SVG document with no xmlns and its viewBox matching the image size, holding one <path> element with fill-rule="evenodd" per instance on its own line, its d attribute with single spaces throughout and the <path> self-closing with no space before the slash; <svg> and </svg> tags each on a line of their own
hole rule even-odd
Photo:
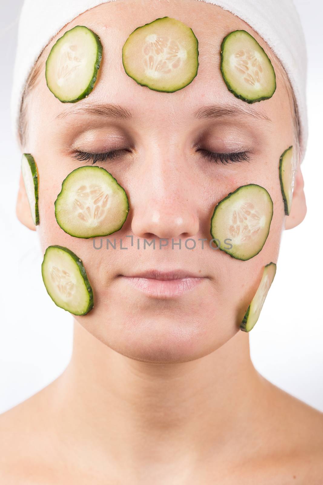
<svg viewBox="0 0 323 485">
<path fill-rule="evenodd" d="M 75 25 L 92 28 L 107 49 L 113 38 L 116 49 L 110 65 L 100 67 L 86 102 L 130 106 L 141 115 L 133 124 L 109 121 L 99 129 L 93 118 L 74 118 L 80 122 L 62 125 L 54 118 L 66 106 L 48 91 L 44 76 L 31 93 L 29 140 L 21 149 L 34 155 L 42 180 L 37 226 L 41 245 L 44 252 L 48 245 L 60 244 L 82 255 L 98 304 L 88 315 L 75 318 L 73 354 L 65 371 L 0 416 L 0 482 L 320 485 L 323 414 L 255 370 L 248 334 L 238 325 L 258 287 L 261 268 L 277 261 L 281 231 L 298 225 L 306 213 L 300 168 L 289 217 L 284 215 L 277 179 L 277 160 L 292 141 L 285 86 L 278 78 L 277 93 L 252 107 L 272 119 L 270 126 L 252 125 L 247 118 L 188 121 L 201 100 L 208 104 L 234 98 L 246 107 L 229 93 L 216 62 L 212 68 L 224 35 L 245 29 L 263 47 L 265 43 L 244 21 L 205 2 L 161 0 L 149 3 L 149 15 L 147 9 L 146 0 L 100 5 L 70 22 L 48 46 L 50 50 Z M 165 97 L 127 77 L 118 56 L 130 32 L 166 15 L 180 19 L 198 36 L 200 78 Z M 274 57 L 272 62 L 278 72 Z M 112 76 L 111 66 L 116 69 Z M 91 141 L 76 132 L 82 123 L 93 123 Z M 205 149 L 221 151 L 215 143 L 219 138 L 225 142 L 222 151 L 248 145 L 252 162 L 198 162 L 188 147 L 202 130 Z M 248 261 L 211 248 L 188 256 L 169 251 L 166 257 L 160 251 L 128 251 L 125 256 L 94 251 L 88 241 L 64 233 L 53 213 L 63 178 L 83 164 L 67 154 L 77 137 L 84 151 L 93 152 L 115 148 L 112 138 L 124 147 L 136 141 L 136 156 L 102 164 L 130 194 L 133 211 L 117 237 L 208 237 L 215 204 L 232 189 L 254 182 L 266 187 L 274 201 L 266 244 Z M 17 215 L 35 228 L 22 183 Z M 204 276 L 203 289 L 164 300 L 125 288 L 117 278 L 134 264 L 147 269 L 162 266 L 166 259 L 173 267 L 180 263 Z"/>
</svg>

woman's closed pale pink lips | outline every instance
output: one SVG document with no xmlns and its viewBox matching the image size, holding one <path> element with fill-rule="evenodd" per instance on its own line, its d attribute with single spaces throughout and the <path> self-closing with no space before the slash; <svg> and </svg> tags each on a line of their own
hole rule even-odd
<svg viewBox="0 0 323 485">
<path fill-rule="evenodd" d="M 207 276 L 181 269 L 169 271 L 153 269 L 133 275 L 118 275 L 118 277 L 136 290 L 154 298 L 179 297 L 194 290 L 208 279 Z"/>
</svg>

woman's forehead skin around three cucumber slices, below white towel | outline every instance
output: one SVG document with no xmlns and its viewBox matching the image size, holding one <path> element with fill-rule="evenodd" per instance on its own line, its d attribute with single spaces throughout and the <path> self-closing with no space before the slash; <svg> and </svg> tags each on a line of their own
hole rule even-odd
<svg viewBox="0 0 323 485">
<path fill-rule="evenodd" d="M 123 44 L 131 32 L 163 16 L 173 17 L 185 23 L 193 30 L 199 42 L 198 75 L 185 88 L 173 93 L 160 93 L 138 85 L 127 76 L 122 64 Z M 85 25 L 100 37 L 103 53 L 92 92 L 87 99 L 73 103 L 74 107 L 90 102 L 113 102 L 126 106 L 133 113 L 147 114 L 149 118 L 146 110 L 152 105 L 155 111 L 159 108 L 166 116 L 169 116 L 169 110 L 180 116 L 186 115 L 186 108 L 191 113 L 194 108 L 200 107 L 201 103 L 208 105 L 221 101 L 240 104 L 245 110 L 267 115 L 274 122 L 277 113 L 284 109 L 284 104 L 288 109 L 284 86 L 280 85 L 279 78 L 274 96 L 252 105 L 229 92 L 220 72 L 221 43 L 229 32 L 238 29 L 249 32 L 269 55 L 276 75 L 280 67 L 276 56 L 261 36 L 240 17 L 218 5 L 203 0 L 116 0 L 102 3 L 74 18 L 55 35 L 43 53 L 44 71 L 50 49 L 66 31 L 76 25 Z M 39 87 L 42 90 L 42 106 L 46 104 L 46 111 L 53 113 L 53 118 L 71 108 L 70 103 L 61 103 L 50 93 L 45 75 L 42 76 Z M 42 106 L 38 109 L 42 110 Z M 277 110 L 277 106 L 280 110 Z"/>
</svg>

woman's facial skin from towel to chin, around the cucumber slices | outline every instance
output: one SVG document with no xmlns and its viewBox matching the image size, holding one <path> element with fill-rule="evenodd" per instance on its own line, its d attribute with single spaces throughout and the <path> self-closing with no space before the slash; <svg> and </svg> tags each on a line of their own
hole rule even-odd
<svg viewBox="0 0 323 485">
<path fill-rule="evenodd" d="M 129 34 L 163 16 L 184 22 L 199 41 L 198 75 L 174 93 L 138 85 L 126 75 L 122 64 L 122 47 Z M 92 285 L 94 307 L 87 315 L 75 318 L 112 349 L 152 362 L 181 362 L 207 355 L 239 331 L 263 266 L 277 262 L 284 223 L 278 162 L 282 152 L 293 144 L 291 107 L 280 77 L 270 99 L 252 105 L 237 99 L 220 73 L 220 45 L 229 32 L 244 29 L 269 53 L 276 75 L 277 62 L 243 20 L 197 0 L 117 0 L 99 5 L 54 37 L 45 60 L 56 40 L 76 25 L 97 33 L 103 45 L 92 93 L 77 103 L 60 102 L 46 86 L 44 64 L 40 82 L 28 99 L 29 142 L 24 148 L 38 165 L 37 231 L 42 249 L 45 252 L 47 246 L 59 244 L 82 259 Z M 112 117 L 107 109 L 105 115 L 81 112 L 85 106 L 111 104 L 123 107 L 131 117 Z M 235 113 L 216 116 L 217 110 L 211 117 L 195 116 L 210 105 L 233 108 Z M 246 113 L 238 113 L 238 109 Z M 77 151 L 114 149 L 123 150 L 117 159 L 97 165 L 107 169 L 125 189 L 130 211 L 122 228 L 108 236 L 111 242 L 116 238 L 116 249 L 110 246 L 107 250 L 104 237 L 98 250 L 93 248 L 93 239 L 75 238 L 60 228 L 54 202 L 62 180 L 75 168 L 91 164 L 73 158 Z M 246 151 L 250 161 L 211 162 L 199 149 Z M 214 243 L 210 247 L 210 221 L 222 198 L 249 183 L 269 192 L 274 215 L 261 252 L 242 261 L 216 250 Z M 133 246 L 127 237 L 131 235 Z M 143 238 L 149 242 L 155 239 L 155 249 L 147 245 L 143 249 Z M 162 249 L 160 238 L 168 240 Z M 195 249 L 185 247 L 187 238 L 196 241 Z M 176 244 L 179 239 L 181 249 Z M 199 239 L 204 239 L 203 249 Z M 126 250 L 121 249 L 120 240 Z M 100 246 L 100 238 L 95 244 Z M 172 268 L 204 279 L 192 291 L 165 297 L 145 294 L 119 276 Z"/>
</svg>

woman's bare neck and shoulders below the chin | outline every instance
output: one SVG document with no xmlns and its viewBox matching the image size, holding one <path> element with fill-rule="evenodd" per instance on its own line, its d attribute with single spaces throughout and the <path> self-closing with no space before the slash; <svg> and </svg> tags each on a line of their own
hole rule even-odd
<svg viewBox="0 0 323 485">
<path fill-rule="evenodd" d="M 255 371 L 242 332 L 138 364 L 76 323 L 67 369 L 0 417 L 3 483 L 322 483 L 322 413 Z"/>
</svg>

